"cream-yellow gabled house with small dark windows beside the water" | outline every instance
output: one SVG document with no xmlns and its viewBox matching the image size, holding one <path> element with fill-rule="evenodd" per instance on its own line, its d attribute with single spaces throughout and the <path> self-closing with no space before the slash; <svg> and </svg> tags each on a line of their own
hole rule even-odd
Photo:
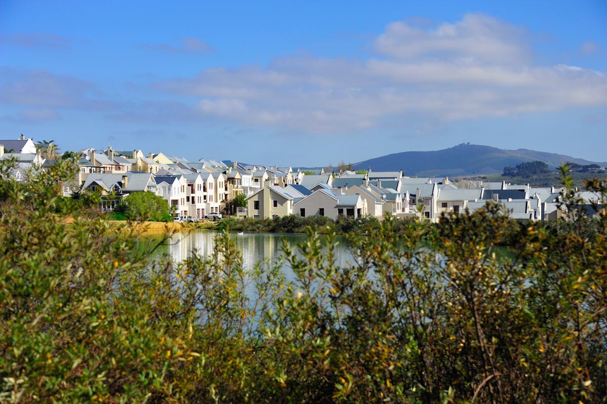
<svg viewBox="0 0 607 404">
<path fill-rule="evenodd" d="M 276 218 L 293 214 L 293 195 L 279 186 L 266 186 L 246 198 L 248 217 Z"/>
</svg>

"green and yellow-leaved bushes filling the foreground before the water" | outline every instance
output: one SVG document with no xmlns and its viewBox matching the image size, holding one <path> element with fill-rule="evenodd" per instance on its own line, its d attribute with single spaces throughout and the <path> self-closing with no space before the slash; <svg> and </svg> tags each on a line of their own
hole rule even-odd
<svg viewBox="0 0 607 404">
<path fill-rule="evenodd" d="M 211 257 L 151 264 L 101 218 L 52 220 L 61 167 L 0 180 L 0 401 L 559 403 L 607 397 L 607 218 L 580 237 L 497 209 L 351 237 L 308 232 L 287 280 Z M 605 197 L 605 183 L 590 184 Z M 563 230 L 563 229 L 561 229 Z M 516 240 L 509 258 L 495 240 Z"/>
</svg>

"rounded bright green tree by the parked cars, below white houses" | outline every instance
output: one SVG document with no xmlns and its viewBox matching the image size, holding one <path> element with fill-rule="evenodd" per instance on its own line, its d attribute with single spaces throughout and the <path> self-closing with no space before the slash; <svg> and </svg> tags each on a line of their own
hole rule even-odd
<svg viewBox="0 0 607 404">
<path fill-rule="evenodd" d="M 171 221 L 169 204 L 152 192 L 133 192 L 117 207 L 128 220 Z"/>
</svg>

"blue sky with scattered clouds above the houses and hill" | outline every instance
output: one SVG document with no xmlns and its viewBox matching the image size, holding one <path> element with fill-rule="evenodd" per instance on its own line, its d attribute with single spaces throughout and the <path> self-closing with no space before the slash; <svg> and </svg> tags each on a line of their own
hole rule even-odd
<svg viewBox="0 0 607 404">
<path fill-rule="evenodd" d="M 607 2 L 0 0 L 0 129 L 280 166 L 607 161 Z"/>
</svg>

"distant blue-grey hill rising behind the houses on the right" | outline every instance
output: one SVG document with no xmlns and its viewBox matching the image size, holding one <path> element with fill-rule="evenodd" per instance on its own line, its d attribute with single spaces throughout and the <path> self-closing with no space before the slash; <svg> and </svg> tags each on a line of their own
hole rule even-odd
<svg viewBox="0 0 607 404">
<path fill-rule="evenodd" d="M 582 158 L 536 150 L 503 150 L 478 144 L 459 144 L 449 149 L 433 152 L 402 152 L 371 158 L 354 164 L 354 169 L 366 170 L 369 167 L 373 171 L 402 169 L 404 175 L 416 175 L 418 177 L 447 175 L 455 177 L 458 175 L 501 173 L 505 166 L 514 167 L 518 163 L 535 160 L 544 161 L 551 169 L 566 162 L 607 166 L 605 162 L 597 163 Z"/>
</svg>

